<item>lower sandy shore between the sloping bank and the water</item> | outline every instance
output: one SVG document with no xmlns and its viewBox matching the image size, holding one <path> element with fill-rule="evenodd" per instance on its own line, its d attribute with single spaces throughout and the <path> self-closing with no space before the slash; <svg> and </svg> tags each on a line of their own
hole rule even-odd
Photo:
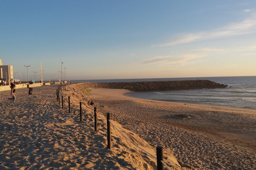
<svg viewBox="0 0 256 170">
<path fill-rule="evenodd" d="M 149 145 L 170 148 L 198 169 L 256 169 L 256 110 L 127 97 L 124 89 L 92 89 L 102 113 Z"/>
</svg>

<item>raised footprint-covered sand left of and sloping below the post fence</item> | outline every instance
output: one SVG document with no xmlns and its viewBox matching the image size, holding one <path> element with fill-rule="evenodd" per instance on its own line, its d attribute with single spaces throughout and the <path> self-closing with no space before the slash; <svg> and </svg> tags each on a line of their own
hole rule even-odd
<svg viewBox="0 0 256 170">
<path fill-rule="evenodd" d="M 62 109 L 56 99 L 56 89 L 57 86 L 34 87 L 32 95 L 28 95 L 28 88 L 17 89 L 14 103 L 7 101 L 9 91 L 0 92 L 0 169 L 156 169 L 154 157 L 130 143 L 113 127 L 112 148 L 107 149 L 106 120 L 99 118 L 98 131 L 95 131 L 94 108 L 87 104 L 87 97 L 92 95 L 68 87 L 67 91 L 61 91 Z M 80 121 L 80 101 L 83 102 L 83 121 Z M 98 114 L 106 116 L 100 110 Z M 134 143 L 156 155 L 156 147 L 111 121 Z M 164 148 L 164 162 L 171 169 L 187 169 L 180 167 L 169 148 Z"/>
</svg>

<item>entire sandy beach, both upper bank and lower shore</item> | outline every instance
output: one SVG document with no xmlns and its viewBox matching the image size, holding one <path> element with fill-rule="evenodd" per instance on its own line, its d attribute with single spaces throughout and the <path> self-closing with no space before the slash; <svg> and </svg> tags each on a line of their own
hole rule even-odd
<svg viewBox="0 0 256 170">
<path fill-rule="evenodd" d="M 1 169 L 156 169 L 156 159 L 112 128 L 107 149 L 106 113 L 131 141 L 152 155 L 164 148 L 171 169 L 255 169 L 256 110 L 184 104 L 125 96 L 125 89 L 68 85 L 16 90 L 14 103 L 1 96 Z M 71 99 L 71 113 L 68 100 Z M 94 130 L 94 106 L 98 131 Z M 82 102 L 83 121 L 79 104 Z"/>
</svg>

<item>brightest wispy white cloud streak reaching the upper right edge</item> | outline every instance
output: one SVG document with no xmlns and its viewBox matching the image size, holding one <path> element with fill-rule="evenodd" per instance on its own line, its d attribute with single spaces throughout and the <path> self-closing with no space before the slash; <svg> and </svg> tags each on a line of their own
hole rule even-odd
<svg viewBox="0 0 256 170">
<path fill-rule="evenodd" d="M 175 46 L 178 44 L 185 44 L 194 41 L 200 41 L 205 39 L 213 39 L 227 36 L 237 36 L 242 34 L 249 34 L 251 31 L 256 30 L 256 16 L 245 19 L 242 22 L 232 23 L 228 26 L 216 29 L 215 31 L 199 32 L 196 34 L 188 34 L 180 37 L 176 40 L 166 42 L 164 44 L 159 44 L 155 46 L 165 47 L 165 46 Z"/>
</svg>

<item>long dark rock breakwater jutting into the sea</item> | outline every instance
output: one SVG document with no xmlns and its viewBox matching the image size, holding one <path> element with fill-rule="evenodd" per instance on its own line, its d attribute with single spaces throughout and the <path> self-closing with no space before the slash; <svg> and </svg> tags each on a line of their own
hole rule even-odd
<svg viewBox="0 0 256 170">
<path fill-rule="evenodd" d="M 127 89 L 134 92 L 190 90 L 201 88 L 225 88 L 228 85 L 209 80 L 155 81 L 155 82 L 111 82 L 111 83 L 82 83 L 84 88 L 114 88 Z"/>
</svg>

